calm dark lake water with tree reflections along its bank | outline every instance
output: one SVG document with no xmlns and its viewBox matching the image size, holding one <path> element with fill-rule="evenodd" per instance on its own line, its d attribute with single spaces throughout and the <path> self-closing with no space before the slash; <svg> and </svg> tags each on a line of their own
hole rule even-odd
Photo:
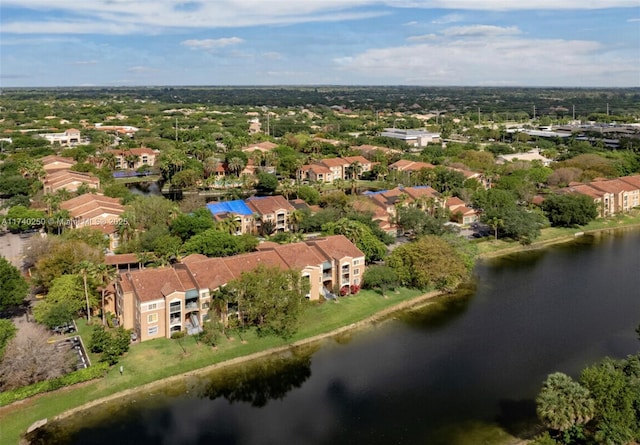
<svg viewBox="0 0 640 445">
<path fill-rule="evenodd" d="M 640 233 L 480 264 L 473 289 L 314 351 L 121 400 L 46 444 L 474 444 L 519 435 L 547 374 L 638 349 Z"/>
</svg>

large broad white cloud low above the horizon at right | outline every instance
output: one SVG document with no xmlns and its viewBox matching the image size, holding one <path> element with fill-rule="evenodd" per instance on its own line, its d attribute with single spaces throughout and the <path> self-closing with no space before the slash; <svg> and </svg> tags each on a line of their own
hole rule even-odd
<svg viewBox="0 0 640 445">
<path fill-rule="evenodd" d="M 474 36 L 370 49 L 335 63 L 372 84 L 639 86 L 633 53 L 592 41 Z"/>
</svg>

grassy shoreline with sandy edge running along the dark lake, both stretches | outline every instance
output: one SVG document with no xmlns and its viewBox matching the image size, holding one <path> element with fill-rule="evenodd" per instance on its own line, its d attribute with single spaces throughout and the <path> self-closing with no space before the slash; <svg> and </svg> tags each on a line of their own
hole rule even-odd
<svg viewBox="0 0 640 445">
<path fill-rule="evenodd" d="M 544 229 L 539 240 L 529 246 L 522 246 L 513 241 L 485 240 L 478 243 L 478 259 L 490 259 L 570 242 L 580 234 L 638 227 L 640 212 L 636 211 L 609 220 L 595 221 L 581 228 Z M 40 419 L 63 419 L 109 400 L 146 391 L 171 381 L 261 359 L 291 348 L 316 344 L 362 329 L 407 308 L 429 304 L 427 300 L 438 295 L 438 292 L 422 294 L 415 290 L 402 289 L 399 293 L 389 294 L 388 298 L 382 298 L 373 292 L 363 291 L 359 295 L 340 299 L 338 303 L 313 305 L 305 313 L 300 330 L 288 341 L 274 337 L 260 338 L 248 333 L 242 339 L 223 338 L 214 352 L 211 348 L 197 345 L 193 339 L 188 338 L 182 345 L 186 353 L 178 342 L 167 339 L 136 345 L 121 362 L 125 368 L 122 376 L 116 369 L 112 369 L 103 379 L 0 407 L 0 443 L 19 443 L 24 431 Z M 89 327 L 80 326 L 80 333 L 85 334 L 85 338 L 88 332 Z M 94 360 L 96 357 L 91 359 Z M 162 366 L 154 366 L 159 363 Z"/>
</svg>

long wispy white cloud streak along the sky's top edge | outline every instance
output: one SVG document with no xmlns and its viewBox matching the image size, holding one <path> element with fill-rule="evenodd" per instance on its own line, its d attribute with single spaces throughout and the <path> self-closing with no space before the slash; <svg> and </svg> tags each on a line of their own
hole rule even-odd
<svg viewBox="0 0 640 445">
<path fill-rule="evenodd" d="M 505 11 L 637 8 L 637 0 L 201 0 L 188 4 L 182 0 L 2 0 L 2 4 L 3 8 L 31 9 L 52 17 L 45 21 L 5 19 L 5 34 L 157 34 L 170 28 L 358 20 L 387 14 L 379 9 L 384 6 Z M 364 7 L 377 9 L 364 11 Z M 445 15 L 436 23 L 458 18 L 457 14 Z"/>
</svg>

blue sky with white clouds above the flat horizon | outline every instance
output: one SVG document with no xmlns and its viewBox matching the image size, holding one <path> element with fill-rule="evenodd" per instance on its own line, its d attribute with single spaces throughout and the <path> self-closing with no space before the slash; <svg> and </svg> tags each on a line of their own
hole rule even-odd
<svg viewBox="0 0 640 445">
<path fill-rule="evenodd" d="M 640 86 L 639 0 L 0 0 L 0 87 Z"/>
</svg>

